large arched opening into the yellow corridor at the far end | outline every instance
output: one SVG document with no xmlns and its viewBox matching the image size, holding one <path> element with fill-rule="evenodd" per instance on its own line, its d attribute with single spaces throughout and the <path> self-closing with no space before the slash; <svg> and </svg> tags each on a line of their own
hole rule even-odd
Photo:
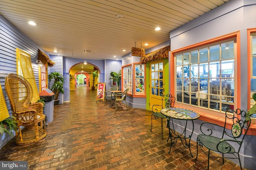
<svg viewBox="0 0 256 170">
<path fill-rule="evenodd" d="M 87 63 L 77 63 L 70 67 L 69 74 L 70 74 L 70 90 L 75 90 L 75 87 L 79 84 L 83 84 L 86 86 L 89 86 L 91 89 L 92 86 L 92 72 L 95 70 L 98 70 L 98 76 L 100 73 L 100 70 L 97 66 Z M 80 75 L 80 76 L 78 76 Z M 98 78 L 95 80 L 95 84 L 98 82 Z"/>
</svg>

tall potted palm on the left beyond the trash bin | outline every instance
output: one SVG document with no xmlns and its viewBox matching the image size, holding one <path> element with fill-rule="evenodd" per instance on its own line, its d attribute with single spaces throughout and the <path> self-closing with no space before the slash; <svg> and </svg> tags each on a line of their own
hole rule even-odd
<svg viewBox="0 0 256 170">
<path fill-rule="evenodd" d="M 64 76 L 60 74 L 59 72 L 51 72 L 51 74 L 48 75 L 48 80 L 54 79 L 54 83 L 50 90 L 55 94 L 55 99 L 54 99 L 54 105 L 58 105 L 58 100 L 59 93 L 64 94 Z"/>
</svg>

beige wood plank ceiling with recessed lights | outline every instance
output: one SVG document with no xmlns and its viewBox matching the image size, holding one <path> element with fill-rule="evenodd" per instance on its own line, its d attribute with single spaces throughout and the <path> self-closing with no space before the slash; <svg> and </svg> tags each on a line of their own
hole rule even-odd
<svg viewBox="0 0 256 170">
<path fill-rule="evenodd" d="M 161 44 L 170 31 L 227 1 L 0 0 L 0 14 L 49 54 L 56 49 L 64 57 L 121 59 L 135 42 L 145 50 Z"/>
</svg>

